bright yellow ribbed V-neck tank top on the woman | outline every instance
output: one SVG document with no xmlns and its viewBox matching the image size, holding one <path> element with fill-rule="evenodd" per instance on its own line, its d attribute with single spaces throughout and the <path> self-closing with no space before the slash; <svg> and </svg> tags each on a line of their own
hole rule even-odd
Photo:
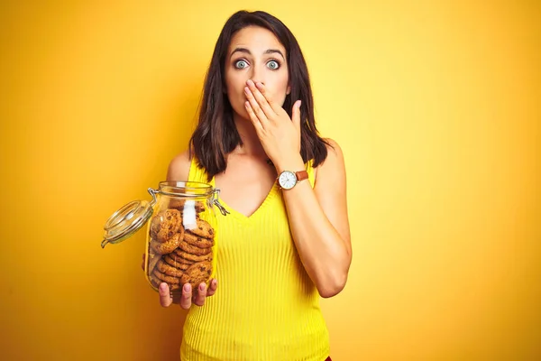
<svg viewBox="0 0 541 361">
<path fill-rule="evenodd" d="M 307 164 L 314 186 L 314 171 Z M 208 182 L 192 160 L 188 180 Z M 215 187 L 215 179 L 211 180 Z M 182 361 L 323 361 L 329 356 L 319 294 L 298 257 L 281 190 L 275 183 L 250 217 L 236 212 L 218 224 L 218 289 L 184 324 Z"/>
</svg>

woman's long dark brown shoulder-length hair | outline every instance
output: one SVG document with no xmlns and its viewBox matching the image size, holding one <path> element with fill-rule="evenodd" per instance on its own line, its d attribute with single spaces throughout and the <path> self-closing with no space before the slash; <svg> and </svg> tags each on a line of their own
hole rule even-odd
<svg viewBox="0 0 541 361">
<path fill-rule="evenodd" d="M 198 123 L 189 140 L 190 158 L 195 154 L 199 165 L 205 169 L 208 180 L 225 171 L 226 155 L 242 144 L 234 125 L 233 108 L 225 92 L 225 58 L 234 34 L 247 26 L 259 26 L 271 31 L 286 49 L 290 93 L 283 108 L 291 117 L 291 106 L 300 99 L 300 154 L 303 161 L 313 161 L 316 167 L 327 156 L 326 141 L 316 129 L 314 99 L 308 77 L 306 60 L 297 39 L 288 27 L 271 14 L 256 11 L 239 11 L 225 23 L 215 44 L 215 50 L 206 72 L 203 98 L 199 108 Z"/>
</svg>

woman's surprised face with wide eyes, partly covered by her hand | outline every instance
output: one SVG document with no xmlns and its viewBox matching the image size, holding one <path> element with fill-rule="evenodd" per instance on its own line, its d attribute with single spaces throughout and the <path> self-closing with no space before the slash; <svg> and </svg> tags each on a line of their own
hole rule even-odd
<svg viewBox="0 0 541 361">
<path fill-rule="evenodd" d="M 225 88 L 234 113 L 249 119 L 244 107 L 246 81 L 261 82 L 267 97 L 282 106 L 289 94 L 286 50 L 267 29 L 248 26 L 234 34 L 225 57 Z"/>
</svg>

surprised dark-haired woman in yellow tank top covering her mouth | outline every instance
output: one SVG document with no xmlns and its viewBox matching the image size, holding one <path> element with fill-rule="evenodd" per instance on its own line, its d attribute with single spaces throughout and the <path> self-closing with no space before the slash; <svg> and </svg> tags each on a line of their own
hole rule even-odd
<svg viewBox="0 0 541 361">
<path fill-rule="evenodd" d="M 242 11 L 225 23 L 167 179 L 212 184 L 230 212 L 217 212 L 215 280 L 178 300 L 181 359 L 325 360 L 319 296 L 342 291 L 352 260 L 344 159 L 317 134 L 307 64 L 280 20 Z M 172 302 L 161 283 L 160 304 Z"/>
</svg>

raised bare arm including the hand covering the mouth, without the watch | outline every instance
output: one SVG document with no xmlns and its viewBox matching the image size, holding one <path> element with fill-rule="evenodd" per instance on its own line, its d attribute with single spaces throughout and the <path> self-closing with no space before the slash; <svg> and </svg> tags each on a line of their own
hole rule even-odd
<svg viewBox="0 0 541 361">
<path fill-rule="evenodd" d="M 265 153 L 281 171 L 301 171 L 300 106 L 296 101 L 291 117 L 267 95 L 262 83 L 246 82 L 244 106 Z M 330 142 L 330 141 L 329 141 Z M 338 144 L 330 142 L 326 162 L 318 166 L 314 189 L 301 181 L 283 190 L 289 226 L 300 260 L 322 297 L 344 289 L 352 262 L 352 245 L 345 197 L 344 156 Z"/>
</svg>

